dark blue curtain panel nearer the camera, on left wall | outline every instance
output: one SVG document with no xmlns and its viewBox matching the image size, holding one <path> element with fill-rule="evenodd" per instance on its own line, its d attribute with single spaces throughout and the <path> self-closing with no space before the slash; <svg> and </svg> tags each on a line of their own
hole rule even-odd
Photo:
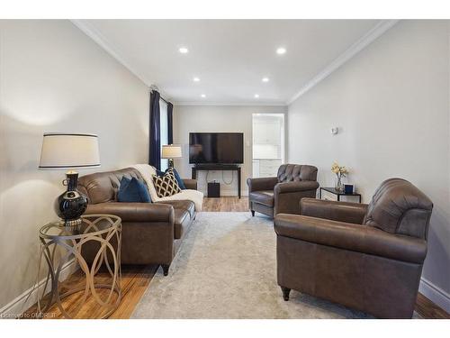
<svg viewBox="0 0 450 338">
<path fill-rule="evenodd" d="M 150 140 L 148 163 L 156 169 L 161 169 L 161 135 L 159 121 L 159 93 L 152 90 L 150 93 Z"/>
</svg>

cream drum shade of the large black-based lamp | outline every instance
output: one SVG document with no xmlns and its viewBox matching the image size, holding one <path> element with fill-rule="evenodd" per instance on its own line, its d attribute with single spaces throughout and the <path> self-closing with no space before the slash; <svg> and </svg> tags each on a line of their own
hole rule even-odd
<svg viewBox="0 0 450 338">
<path fill-rule="evenodd" d="M 75 169 L 99 166 L 97 135 L 44 133 L 40 151 L 40 169 Z"/>
</svg>

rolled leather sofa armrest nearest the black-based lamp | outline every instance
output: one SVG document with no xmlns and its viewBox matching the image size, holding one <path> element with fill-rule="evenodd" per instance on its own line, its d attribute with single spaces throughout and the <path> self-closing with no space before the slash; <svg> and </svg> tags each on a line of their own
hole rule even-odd
<svg viewBox="0 0 450 338">
<path fill-rule="evenodd" d="M 174 224 L 174 207 L 157 203 L 106 202 L 87 205 L 85 214 L 109 214 L 122 222 L 166 222 Z"/>
</svg>

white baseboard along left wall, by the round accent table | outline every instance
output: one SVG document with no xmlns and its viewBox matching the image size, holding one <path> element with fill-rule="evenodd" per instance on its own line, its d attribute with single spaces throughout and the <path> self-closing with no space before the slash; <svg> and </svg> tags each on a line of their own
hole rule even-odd
<svg viewBox="0 0 450 338">
<path fill-rule="evenodd" d="M 66 264 L 63 265 L 61 272 L 59 274 L 59 280 L 63 281 L 67 279 L 74 271 L 78 269 L 75 260 L 67 261 Z M 37 297 L 42 293 L 42 288 L 44 288 L 45 280 L 40 280 L 39 283 L 33 285 L 31 288 L 25 290 L 22 295 L 14 298 L 11 302 L 0 308 L 0 318 L 8 319 L 8 318 L 17 318 L 23 314 L 26 310 L 28 310 L 31 306 L 36 304 Z M 49 292 L 51 288 L 50 283 L 47 285 L 45 290 L 45 294 Z"/>
</svg>

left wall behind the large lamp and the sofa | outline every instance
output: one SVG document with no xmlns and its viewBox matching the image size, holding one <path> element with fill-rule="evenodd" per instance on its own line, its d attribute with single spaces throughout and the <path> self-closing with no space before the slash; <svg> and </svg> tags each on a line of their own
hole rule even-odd
<svg viewBox="0 0 450 338">
<path fill-rule="evenodd" d="M 148 88 L 68 21 L 0 20 L 0 75 L 1 308 L 31 287 L 57 218 L 64 171 L 38 170 L 42 133 L 98 134 L 96 171 L 147 162 Z"/>
</svg>

